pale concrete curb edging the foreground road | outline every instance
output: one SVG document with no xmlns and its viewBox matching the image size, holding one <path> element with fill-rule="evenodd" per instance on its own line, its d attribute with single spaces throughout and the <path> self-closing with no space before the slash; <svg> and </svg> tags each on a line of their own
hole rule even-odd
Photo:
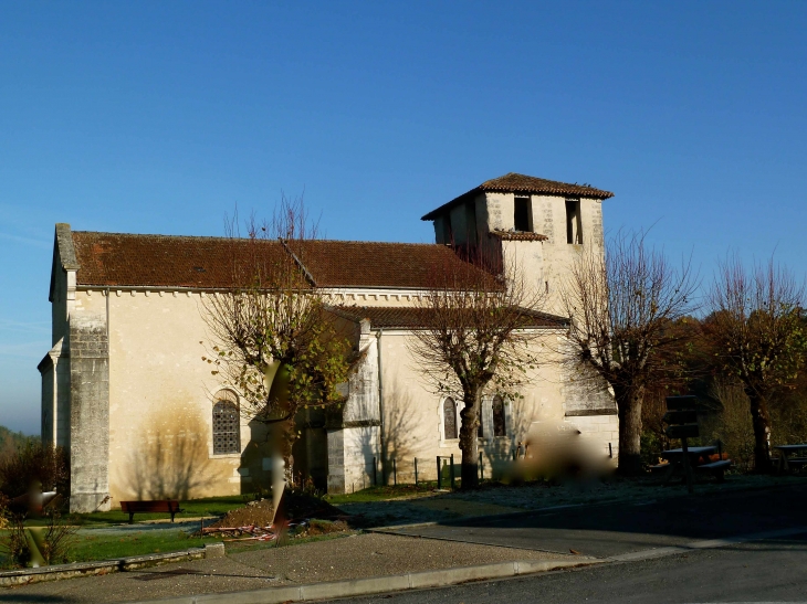
<svg viewBox="0 0 807 604">
<path fill-rule="evenodd" d="M 250 592 L 229 592 L 205 595 L 189 595 L 164 600 L 148 600 L 132 604 L 281 604 L 283 602 L 308 602 L 332 600 L 357 595 L 371 595 L 386 592 L 419 590 L 423 587 L 444 587 L 467 581 L 506 579 L 523 574 L 555 571 L 570 566 L 600 564 L 604 560 L 563 561 L 563 560 L 517 560 L 479 566 L 460 566 L 440 571 L 371 576 L 331 583 L 312 583 L 286 587 L 269 587 Z"/>
</svg>

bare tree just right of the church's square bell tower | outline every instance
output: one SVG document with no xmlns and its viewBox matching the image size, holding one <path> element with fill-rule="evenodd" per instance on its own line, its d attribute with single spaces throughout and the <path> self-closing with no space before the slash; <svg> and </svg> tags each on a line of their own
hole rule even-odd
<svg viewBox="0 0 807 604">
<path fill-rule="evenodd" d="M 563 284 L 572 324 L 559 351 L 574 374 L 595 388 L 605 380 L 614 390 L 621 474 L 641 469 L 644 394 L 664 374 L 664 352 L 687 333 L 677 324 L 694 309 L 696 288 L 689 263 L 674 268 L 647 245 L 646 233 L 622 231 L 608 241 L 605 255 L 581 255 Z"/>
</svg>

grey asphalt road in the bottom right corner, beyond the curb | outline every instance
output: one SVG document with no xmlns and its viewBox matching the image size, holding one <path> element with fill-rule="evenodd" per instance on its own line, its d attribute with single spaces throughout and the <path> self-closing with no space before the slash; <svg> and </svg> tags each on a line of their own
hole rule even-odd
<svg viewBox="0 0 807 604">
<path fill-rule="evenodd" d="M 807 602 L 807 534 L 641 562 L 339 602 L 475 604 L 583 602 L 680 604 Z"/>
</svg>

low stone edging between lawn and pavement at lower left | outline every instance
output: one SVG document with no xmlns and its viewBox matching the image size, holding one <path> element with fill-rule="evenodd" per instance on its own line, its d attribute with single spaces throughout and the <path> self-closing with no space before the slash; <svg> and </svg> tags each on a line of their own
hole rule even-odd
<svg viewBox="0 0 807 604">
<path fill-rule="evenodd" d="M 223 558 L 224 544 L 212 543 L 203 548 L 190 548 L 189 550 L 149 553 L 145 555 L 132 555 L 128 558 L 116 558 L 97 562 L 75 562 L 73 564 L 52 564 L 39 569 L 20 569 L 17 571 L 0 572 L 0 586 L 14 587 L 41 583 L 43 581 L 59 581 L 60 579 L 74 579 L 76 576 L 91 576 L 109 574 L 114 572 L 137 571 L 149 566 L 169 564 L 171 562 L 185 562 L 199 560 L 200 558 Z"/>
</svg>

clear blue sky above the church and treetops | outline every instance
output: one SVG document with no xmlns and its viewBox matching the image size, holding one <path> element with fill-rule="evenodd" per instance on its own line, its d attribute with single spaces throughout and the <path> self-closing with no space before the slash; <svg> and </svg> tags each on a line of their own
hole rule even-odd
<svg viewBox="0 0 807 604">
<path fill-rule="evenodd" d="M 807 2 L 0 3 L 0 424 L 39 431 L 55 222 L 222 234 L 305 192 L 334 239 L 515 171 L 614 191 L 710 275 L 805 273 Z"/>
</svg>

